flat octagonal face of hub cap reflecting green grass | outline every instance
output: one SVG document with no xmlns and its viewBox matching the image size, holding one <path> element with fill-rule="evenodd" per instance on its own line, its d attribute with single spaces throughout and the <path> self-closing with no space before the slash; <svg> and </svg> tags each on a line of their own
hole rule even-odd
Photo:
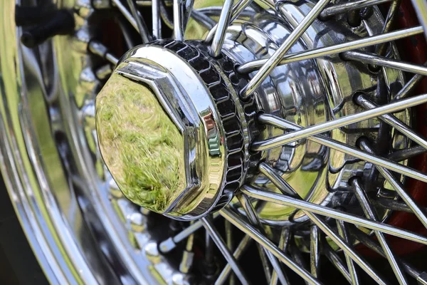
<svg viewBox="0 0 427 285">
<path fill-rule="evenodd" d="M 96 99 L 102 157 L 123 194 L 164 212 L 186 187 L 184 139 L 151 88 L 113 75 Z"/>
</svg>

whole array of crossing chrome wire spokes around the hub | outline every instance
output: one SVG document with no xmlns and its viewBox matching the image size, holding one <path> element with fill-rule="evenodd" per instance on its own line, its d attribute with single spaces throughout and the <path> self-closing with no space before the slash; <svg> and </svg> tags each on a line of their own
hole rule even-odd
<svg viewBox="0 0 427 285">
<path fill-rule="evenodd" d="M 218 14 L 218 22 L 214 22 L 214 24 L 211 23 L 211 19 L 206 19 L 206 16 L 201 15 L 201 12 L 193 9 L 193 2 L 191 0 L 172 1 L 173 37 L 179 41 L 185 40 L 186 22 L 191 15 L 193 15 L 195 21 L 206 21 L 206 23 L 210 23 L 211 28 L 205 41 L 211 47 L 209 51 L 210 55 L 216 58 L 221 55 L 221 48 L 228 26 L 238 19 L 239 14 L 252 1 L 223 1 L 223 7 Z M 314 48 L 299 53 L 288 52 L 316 19 L 330 21 L 333 16 L 338 14 L 348 14 L 349 24 L 351 24 L 352 21 L 357 21 L 361 9 L 386 2 L 390 2 L 390 6 L 386 14 L 382 33 L 334 46 Z M 125 19 L 129 21 L 131 26 L 139 32 L 142 43 L 162 37 L 162 19 L 165 21 L 161 9 L 162 0 L 152 0 L 147 4 L 152 6 L 151 33 L 148 31 L 134 1 L 127 0 L 129 10 L 120 0 L 113 0 L 112 3 L 125 16 Z M 270 58 L 247 62 L 238 67 L 239 73 L 251 75 L 251 80 L 239 94 L 243 100 L 256 94 L 255 91 L 257 88 L 259 88 L 265 78 L 268 78 L 276 66 L 312 58 L 325 58 L 327 60 L 327 56 L 334 54 L 339 54 L 345 61 L 364 63 L 373 70 L 386 67 L 413 73 L 413 77 L 391 99 L 390 103 L 377 105 L 371 102 L 363 93 L 355 94 L 354 102 L 365 110 L 354 115 L 330 120 L 326 123 L 302 128 L 302 126 L 295 125 L 295 123 L 282 118 L 261 114 L 258 116 L 260 124 L 285 130 L 285 133 L 268 140 L 255 141 L 251 145 L 253 151 L 263 151 L 282 147 L 291 142 L 312 140 L 320 145 L 325 145 L 331 149 L 351 155 L 357 161 L 364 160 L 372 163 L 381 176 L 384 177 L 384 180 L 395 190 L 399 199 L 371 197 L 360 177 L 353 177 L 349 182 L 351 186 L 349 189 L 357 197 L 362 215 L 350 214 L 342 211 L 342 209 L 306 202 L 272 167 L 265 163 L 260 163 L 258 165 L 259 172 L 265 175 L 277 187 L 278 193 L 269 192 L 263 187 L 243 185 L 241 190 L 236 193 L 236 198 L 238 199 L 239 206 L 243 209 L 244 215 L 233 206 L 228 205 L 221 209 L 220 212 L 191 223 L 189 227 L 161 242 L 159 244 L 160 251 L 164 253 L 171 252 L 177 247 L 177 244 L 186 242 L 186 251 L 191 252 L 194 234 L 201 229 L 205 229 L 207 233 L 206 255 L 209 252 L 211 254 L 212 244 L 214 243 L 223 255 L 223 258 L 226 259 L 226 266 L 216 275 L 215 284 L 224 284 L 226 282 L 235 284 L 238 281 L 241 284 L 251 283 L 239 264 L 239 260 L 243 257 L 246 249 L 251 246 L 252 242 L 255 242 L 258 248 L 265 279 L 269 284 L 290 284 L 287 274 L 289 269 L 304 279 L 307 284 L 320 284 L 319 264 L 322 257 L 330 260 L 337 271 L 351 284 L 360 284 L 362 282 L 361 274 L 369 275 L 378 284 L 388 284 L 392 276 L 381 276 L 374 269 L 374 266 L 371 266 L 357 250 L 356 244 L 363 244 L 364 247 L 371 249 L 389 262 L 391 270 L 394 272 L 393 281 L 397 280 L 399 284 L 408 284 L 408 281 L 413 278 L 421 284 L 427 284 L 427 276 L 423 271 L 419 271 L 414 266 L 411 266 L 408 261 L 394 253 L 388 236 L 399 237 L 400 239 L 407 239 L 420 244 L 427 244 L 427 237 L 386 224 L 381 221 L 379 215 L 376 213 L 376 207 L 413 213 L 421 224 L 427 227 L 426 209 L 417 204 L 406 191 L 405 185 L 401 182 L 402 175 L 420 180 L 421 182 L 427 182 L 427 174 L 399 163 L 426 152 L 427 140 L 394 115 L 394 113 L 401 110 L 427 103 L 427 94 L 414 93 L 417 84 L 421 82 L 423 76 L 427 75 L 427 68 L 426 66 L 404 62 L 395 58 L 388 58 L 386 55 L 387 43 L 390 41 L 419 34 L 427 36 L 426 1 L 412 0 L 412 3 L 418 13 L 420 26 L 393 31 L 392 27 L 396 21 L 396 15 L 401 4 L 400 0 L 354 0 L 342 1 L 340 4 L 330 4 L 330 0 L 319 0 Z M 280 7 L 280 1 L 278 1 L 278 5 L 276 6 Z M 95 43 L 91 44 L 94 45 Z M 373 53 L 360 50 L 360 48 L 368 46 L 374 47 Z M 100 56 L 107 56 L 106 53 L 99 53 L 97 46 L 92 46 L 90 51 Z M 117 63 L 117 58 L 112 56 L 110 59 L 107 58 L 107 60 Z M 385 156 L 380 156 L 375 153 L 374 147 L 371 146 L 367 138 L 360 138 L 357 145 L 352 146 L 333 140 L 325 135 L 332 130 L 370 118 L 379 118 L 379 120 L 394 128 L 394 130 L 399 131 L 402 135 L 405 135 L 412 142 L 416 143 L 416 145 L 406 150 L 399 150 Z M 273 202 L 295 207 L 295 209 L 304 212 L 310 219 L 310 233 L 308 234 L 310 243 L 307 244 L 308 254 L 310 255 L 309 264 L 304 264 L 298 255 L 300 254 L 297 252 L 299 249 L 292 242 L 294 233 L 291 227 L 281 227 L 278 229 L 280 233 L 278 234 L 278 239 L 274 239 L 271 237 L 271 234 L 268 234 L 263 222 L 258 217 L 258 206 L 263 207 L 262 202 Z M 220 216 L 226 221 L 225 237 L 216 229 L 216 223 L 214 223 Z M 243 232 L 243 238 L 238 244 L 233 244 L 235 240 L 233 239 L 232 232 L 236 228 Z M 339 248 L 342 254 L 332 249 L 331 244 Z M 181 264 L 186 264 L 188 261 L 186 258 L 188 257 L 184 254 Z"/>
</svg>

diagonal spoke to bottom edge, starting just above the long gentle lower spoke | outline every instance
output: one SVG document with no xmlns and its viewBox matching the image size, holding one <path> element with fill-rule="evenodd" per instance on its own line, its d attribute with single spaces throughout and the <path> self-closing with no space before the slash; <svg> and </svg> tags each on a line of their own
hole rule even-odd
<svg viewBox="0 0 427 285">
<path fill-rule="evenodd" d="M 260 164 L 259 170 L 261 173 L 263 173 L 263 175 L 265 175 L 268 179 L 270 179 L 270 181 L 273 182 L 273 184 L 276 187 L 278 187 L 278 190 L 280 190 L 280 192 L 283 192 L 284 194 L 287 192 L 292 192 L 293 197 L 296 197 L 296 199 L 302 200 L 300 195 L 298 195 L 297 192 L 292 187 L 290 187 L 290 185 L 288 185 L 288 183 L 285 180 L 283 180 L 282 177 L 277 175 L 277 173 L 275 173 L 273 168 L 271 168 L 270 166 L 262 162 Z M 247 187 L 246 185 L 243 186 L 243 189 L 247 190 L 246 187 Z M 364 259 L 362 259 L 362 257 L 359 256 L 359 254 L 357 254 L 357 252 L 354 251 L 354 249 L 352 249 L 352 247 L 349 245 L 349 242 L 345 238 L 347 237 L 347 232 L 345 232 L 344 229 L 342 229 L 342 234 L 345 237 L 340 238 L 338 234 L 332 231 L 332 229 L 324 221 L 322 221 L 322 219 L 320 219 L 320 217 L 317 217 L 317 215 L 305 209 L 302 209 L 302 211 L 307 215 L 307 217 L 311 219 L 313 223 L 317 225 L 317 227 L 319 227 L 319 229 L 322 229 L 322 231 L 325 232 L 325 234 L 327 234 L 327 236 L 330 237 L 330 239 L 332 239 L 332 241 L 334 241 L 335 244 L 337 244 L 338 247 L 340 247 L 342 251 L 346 254 L 347 264 L 350 269 L 350 275 L 352 276 L 352 280 L 354 281 L 357 280 L 357 274 L 356 274 L 356 271 L 354 271 L 354 266 L 352 264 L 352 261 L 355 261 L 377 283 L 386 284 L 386 282 L 381 279 L 379 274 L 377 274 L 374 271 L 374 269 L 372 269 L 372 267 L 369 266 L 369 264 L 367 264 L 367 262 L 364 261 Z M 356 281 L 356 283 L 358 282 Z"/>
</svg>

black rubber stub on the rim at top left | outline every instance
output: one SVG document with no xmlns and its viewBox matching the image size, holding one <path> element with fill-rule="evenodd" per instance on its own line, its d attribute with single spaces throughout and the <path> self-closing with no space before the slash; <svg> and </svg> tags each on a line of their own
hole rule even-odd
<svg viewBox="0 0 427 285">
<path fill-rule="evenodd" d="M 74 16 L 68 10 L 58 10 L 49 21 L 24 31 L 21 43 L 28 48 L 34 48 L 43 41 L 56 35 L 73 33 L 75 27 Z"/>
</svg>

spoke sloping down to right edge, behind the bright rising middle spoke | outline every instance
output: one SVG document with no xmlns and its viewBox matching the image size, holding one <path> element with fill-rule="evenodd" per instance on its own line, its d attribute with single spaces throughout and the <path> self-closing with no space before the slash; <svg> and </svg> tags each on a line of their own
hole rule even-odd
<svg viewBox="0 0 427 285">
<path fill-rule="evenodd" d="M 300 130 L 300 126 L 296 127 L 294 123 L 290 123 L 287 120 L 283 120 L 280 118 L 277 118 L 272 115 L 260 115 L 259 120 L 261 123 L 268 123 L 270 125 L 274 125 L 278 128 L 283 129 L 294 129 L 294 130 Z M 278 137 L 276 137 L 278 138 Z M 340 152 L 347 153 L 348 155 L 353 155 L 354 157 L 358 157 L 362 160 L 366 160 L 367 162 L 374 163 L 376 165 L 379 165 L 381 167 L 384 167 L 388 170 L 392 170 L 394 172 L 399 172 L 403 175 L 406 175 L 408 177 L 412 177 L 416 180 L 420 180 L 423 182 L 427 182 L 427 175 L 425 175 L 423 172 L 419 172 L 418 170 L 413 170 L 409 167 L 405 167 L 403 165 L 400 165 L 399 163 L 393 162 L 391 160 L 385 159 L 383 157 L 379 157 L 377 155 L 370 154 L 368 152 L 364 152 L 362 150 L 357 149 L 356 147 L 351 147 L 349 145 L 345 145 L 342 142 L 338 142 L 336 140 L 332 140 L 330 138 L 326 138 L 321 135 L 315 135 L 314 137 L 308 138 L 309 140 L 312 140 L 313 142 L 320 143 L 321 145 L 325 145 L 327 147 L 330 147 L 334 150 L 339 150 Z M 265 147 L 263 145 L 264 142 L 253 142 L 253 150 L 267 150 L 273 147 Z"/>
</svg>

